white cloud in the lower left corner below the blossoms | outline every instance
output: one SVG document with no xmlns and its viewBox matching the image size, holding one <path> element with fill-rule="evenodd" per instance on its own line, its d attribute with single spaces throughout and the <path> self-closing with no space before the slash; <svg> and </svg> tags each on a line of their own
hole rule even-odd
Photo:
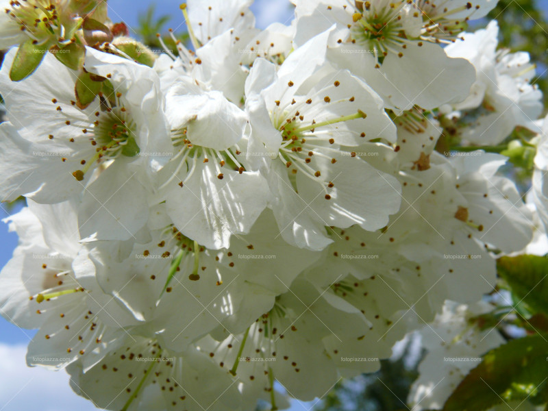
<svg viewBox="0 0 548 411">
<path fill-rule="evenodd" d="M 0 411 L 92 411 L 93 404 L 78 397 L 64 371 L 27 367 L 25 345 L 0 343 Z"/>
</svg>

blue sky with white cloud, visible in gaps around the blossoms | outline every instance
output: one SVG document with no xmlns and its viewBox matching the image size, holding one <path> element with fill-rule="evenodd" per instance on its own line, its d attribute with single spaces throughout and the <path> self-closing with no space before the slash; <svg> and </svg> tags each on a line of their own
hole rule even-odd
<svg viewBox="0 0 548 411">
<path fill-rule="evenodd" d="M 113 21 L 124 21 L 129 26 L 136 26 L 138 15 L 147 10 L 151 1 L 145 0 L 109 0 L 109 12 Z M 157 1 L 156 14 L 171 14 L 169 25 L 177 27 L 183 17 L 179 10 L 181 1 Z M 548 0 L 539 0 L 543 10 L 548 10 Z M 264 28 L 274 21 L 288 23 L 292 8 L 285 0 L 256 0 L 253 12 L 257 25 Z M 16 212 L 17 209 L 10 210 Z M 0 216 L 8 216 L 0 208 Z M 17 236 L 8 233 L 8 225 L 0 223 L 0 267 L 11 258 L 17 244 Z M 95 410 L 92 404 L 77 397 L 69 388 L 68 377 L 64 372 L 55 373 L 45 369 L 29 369 L 25 365 L 26 345 L 33 331 L 18 329 L 0 317 L 0 358 L 3 373 L 0 373 L 0 411 L 79 411 Z M 291 411 L 309 411 L 312 403 L 295 401 Z"/>
</svg>

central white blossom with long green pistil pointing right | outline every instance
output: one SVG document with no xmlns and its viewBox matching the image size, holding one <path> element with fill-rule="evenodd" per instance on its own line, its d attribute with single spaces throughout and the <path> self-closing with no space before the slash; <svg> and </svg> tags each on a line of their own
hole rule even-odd
<svg viewBox="0 0 548 411">
<path fill-rule="evenodd" d="M 325 65 L 328 36 L 312 38 L 278 71 L 256 60 L 246 83 L 249 161 L 277 197 L 271 208 L 282 236 L 310 249 L 330 242 L 326 225 L 383 227 L 400 198 L 395 177 L 354 153 L 373 139 L 394 142 L 395 129 L 369 86 Z"/>
</svg>

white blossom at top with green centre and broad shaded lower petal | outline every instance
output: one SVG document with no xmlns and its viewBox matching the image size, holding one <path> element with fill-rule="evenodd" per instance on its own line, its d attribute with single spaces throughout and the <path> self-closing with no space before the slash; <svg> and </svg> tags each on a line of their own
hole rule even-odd
<svg viewBox="0 0 548 411">
<path fill-rule="evenodd" d="M 329 60 L 366 81 L 390 108 L 437 108 L 462 101 L 473 83 L 473 67 L 449 58 L 436 40 L 424 39 L 421 10 L 408 1 L 294 1 L 295 44 L 331 25 Z M 424 29 L 426 32 L 426 29 Z M 428 62 L 425 64 L 425 62 Z"/>
</svg>

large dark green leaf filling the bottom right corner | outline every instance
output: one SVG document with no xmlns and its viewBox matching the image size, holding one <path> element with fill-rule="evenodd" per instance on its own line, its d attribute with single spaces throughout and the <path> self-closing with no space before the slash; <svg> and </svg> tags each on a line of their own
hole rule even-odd
<svg viewBox="0 0 548 411">
<path fill-rule="evenodd" d="M 546 387 L 548 342 L 536 335 L 489 351 L 453 391 L 443 411 L 484 411 L 499 403 L 534 398 Z"/>
</svg>

